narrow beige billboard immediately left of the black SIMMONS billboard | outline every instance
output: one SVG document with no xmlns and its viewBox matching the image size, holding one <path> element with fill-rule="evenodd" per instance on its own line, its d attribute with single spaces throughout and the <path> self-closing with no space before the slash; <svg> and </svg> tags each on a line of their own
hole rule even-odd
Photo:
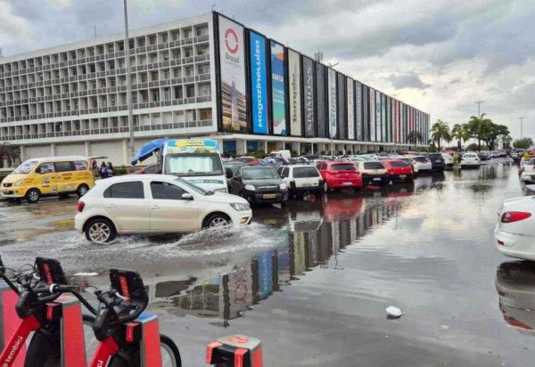
<svg viewBox="0 0 535 367">
<path fill-rule="evenodd" d="M 300 54 L 288 50 L 288 83 L 290 94 L 290 135 L 302 135 L 300 110 Z"/>
</svg>

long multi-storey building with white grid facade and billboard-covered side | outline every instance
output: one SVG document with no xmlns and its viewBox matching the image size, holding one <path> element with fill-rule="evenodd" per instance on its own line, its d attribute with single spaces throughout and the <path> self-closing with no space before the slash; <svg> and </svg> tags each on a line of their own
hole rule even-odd
<svg viewBox="0 0 535 367">
<path fill-rule="evenodd" d="M 233 155 L 332 143 L 376 151 L 407 147 L 401 125 L 406 135 L 427 130 L 423 112 L 215 12 L 129 36 L 127 47 L 117 35 L 1 58 L 0 144 L 20 146 L 21 159 L 81 154 L 128 164 L 127 49 L 135 149 L 161 136 L 202 136 Z M 374 121 L 372 91 L 384 101 Z"/>
</svg>

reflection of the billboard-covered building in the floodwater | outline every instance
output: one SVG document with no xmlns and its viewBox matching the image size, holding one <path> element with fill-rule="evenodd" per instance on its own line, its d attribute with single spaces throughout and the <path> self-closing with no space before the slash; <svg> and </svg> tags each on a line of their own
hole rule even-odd
<svg viewBox="0 0 535 367">
<path fill-rule="evenodd" d="M 362 201 L 357 203 L 329 200 L 323 207 L 325 211 L 330 210 L 329 221 L 311 213 L 317 213 L 318 208 L 292 212 L 289 205 L 292 231 L 285 244 L 265 250 L 250 261 L 236 265 L 232 272 L 202 284 L 194 278 L 158 283 L 155 296 L 161 299 L 156 302 L 172 306 L 170 313 L 219 318 L 226 326 L 229 320 L 242 316 L 250 306 L 288 285 L 296 276 L 306 274 L 317 265 L 328 265 L 333 254 L 385 223 L 402 205 L 401 201 L 390 200 L 377 202 L 377 205 L 371 203 L 364 209 Z M 342 208 L 327 208 L 336 205 Z M 348 208 L 356 212 L 351 214 Z"/>
</svg>

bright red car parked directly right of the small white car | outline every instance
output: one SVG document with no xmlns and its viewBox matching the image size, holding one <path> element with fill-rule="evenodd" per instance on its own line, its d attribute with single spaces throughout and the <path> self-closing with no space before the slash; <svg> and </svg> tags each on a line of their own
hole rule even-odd
<svg viewBox="0 0 535 367">
<path fill-rule="evenodd" d="M 326 161 L 317 169 L 324 179 L 324 192 L 330 189 L 362 187 L 362 177 L 353 163 Z"/>
</svg>

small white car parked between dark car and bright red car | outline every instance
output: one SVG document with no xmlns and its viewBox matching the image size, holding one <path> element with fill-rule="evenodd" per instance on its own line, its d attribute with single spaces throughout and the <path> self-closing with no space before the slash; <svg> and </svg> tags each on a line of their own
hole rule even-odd
<svg viewBox="0 0 535 367">
<path fill-rule="evenodd" d="M 284 166 L 279 167 L 277 173 L 284 180 L 292 195 L 323 192 L 324 183 L 317 167 L 311 165 Z"/>
</svg>

